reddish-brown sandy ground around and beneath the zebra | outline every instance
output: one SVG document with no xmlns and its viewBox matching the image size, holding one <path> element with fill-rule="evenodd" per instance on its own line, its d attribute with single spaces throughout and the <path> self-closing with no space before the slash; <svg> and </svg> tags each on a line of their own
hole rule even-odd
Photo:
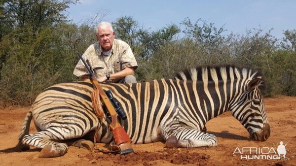
<svg viewBox="0 0 296 166">
<path fill-rule="evenodd" d="M 136 151 L 125 156 L 102 154 L 98 151 L 71 146 L 58 158 L 40 159 L 40 149 L 31 148 L 20 153 L 0 153 L 0 166 L 296 166 L 296 97 L 280 96 L 265 99 L 271 135 L 265 142 L 250 141 L 248 132 L 229 112 L 206 124 L 208 133 L 218 137 L 218 146 L 193 149 L 164 149 L 164 142 L 133 145 Z M 0 108 L 0 149 L 17 144 L 21 125 L 29 107 Z M 30 133 L 36 132 L 33 122 Z M 233 152 L 243 147 L 277 149 L 279 142 L 286 144 L 285 160 L 247 160 Z M 104 144 L 100 144 L 103 146 Z M 255 153 L 255 152 L 254 152 Z M 245 152 L 248 154 L 248 152 Z M 248 154 L 249 155 L 249 154 Z M 270 154 L 274 155 L 274 154 Z"/>
</svg>

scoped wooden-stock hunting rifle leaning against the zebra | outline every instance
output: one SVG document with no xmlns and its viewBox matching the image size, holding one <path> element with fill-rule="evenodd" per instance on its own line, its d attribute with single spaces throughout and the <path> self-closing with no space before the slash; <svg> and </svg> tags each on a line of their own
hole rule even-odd
<svg viewBox="0 0 296 166">
<path fill-rule="evenodd" d="M 79 52 L 77 52 L 77 54 L 80 57 L 81 61 L 83 62 L 84 66 L 87 68 L 87 70 L 90 74 L 90 81 L 94 85 L 95 90 L 91 94 L 91 100 L 92 100 L 93 108 L 95 110 L 96 115 L 100 119 L 103 118 L 104 110 L 103 110 L 102 104 L 104 104 L 105 108 L 107 109 L 107 112 L 109 113 L 109 116 L 111 119 L 111 123 L 109 124 L 109 130 L 112 131 L 113 138 L 116 142 L 115 146 L 114 145 L 111 146 L 112 151 L 110 151 L 110 152 L 120 153 L 121 155 L 134 152 L 132 145 L 131 145 L 132 141 L 131 141 L 130 137 L 128 136 L 128 134 L 123 129 L 123 127 L 119 124 L 118 119 L 117 119 L 117 112 L 114 109 L 109 97 L 106 95 L 104 90 L 101 88 L 99 82 L 95 78 L 94 73 L 89 68 L 89 66 L 86 64 L 86 62 L 82 58 L 81 54 Z M 111 91 L 110 91 L 110 93 L 111 93 Z M 113 99 L 113 96 L 111 96 L 111 97 L 112 97 L 111 99 Z M 101 104 L 100 100 L 101 100 L 102 104 Z M 118 109 L 117 105 L 116 105 L 116 109 Z M 124 112 L 122 111 L 122 109 L 118 113 L 119 113 L 120 117 L 122 117 L 122 114 L 125 115 Z M 126 116 L 125 117 L 123 116 L 122 119 L 124 119 L 124 118 L 126 118 Z M 97 132 L 98 131 L 99 131 L 99 129 L 97 130 Z M 95 142 L 94 143 L 96 143 L 97 132 L 95 134 L 95 139 L 94 139 Z M 104 152 L 106 152 L 106 151 L 104 151 Z"/>
</svg>

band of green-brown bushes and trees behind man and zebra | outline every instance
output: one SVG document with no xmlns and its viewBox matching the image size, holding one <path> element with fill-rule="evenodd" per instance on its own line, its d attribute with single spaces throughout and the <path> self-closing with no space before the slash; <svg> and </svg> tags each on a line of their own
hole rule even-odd
<svg viewBox="0 0 296 166">
<path fill-rule="evenodd" d="M 96 42 L 95 28 L 107 15 L 74 24 L 65 14 L 79 0 L 5 0 L 0 2 L 0 101 L 29 105 L 45 88 L 77 80 L 73 70 Z M 130 16 L 111 23 L 115 37 L 127 42 L 137 59 L 138 82 L 173 78 L 190 66 L 249 66 L 265 77 L 265 97 L 296 96 L 296 29 L 278 39 L 261 29 L 225 34 L 202 19 L 150 31 Z M 180 26 L 184 27 L 181 29 Z"/>
</svg>

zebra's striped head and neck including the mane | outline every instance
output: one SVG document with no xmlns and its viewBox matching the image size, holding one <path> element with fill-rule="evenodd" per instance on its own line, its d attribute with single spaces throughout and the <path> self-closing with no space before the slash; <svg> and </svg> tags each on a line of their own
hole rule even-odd
<svg viewBox="0 0 296 166">
<path fill-rule="evenodd" d="M 258 140 L 266 140 L 268 138 L 270 134 L 268 118 L 259 90 L 259 87 L 264 88 L 264 85 L 262 84 L 262 76 L 258 71 L 235 66 L 199 67 L 181 71 L 176 74 L 175 79 L 195 80 L 197 82 L 200 80 L 204 84 L 205 92 L 211 89 L 210 84 L 205 84 L 212 82 L 219 100 L 213 97 L 215 94 L 212 94 L 211 97 L 212 99 L 217 99 L 213 100 L 216 103 L 216 107 L 220 103 L 219 111 L 216 112 L 217 115 L 230 110 L 232 115 L 248 130 L 251 138 L 254 138 L 254 136 Z M 213 82 L 215 83 L 214 85 Z M 229 83 L 227 84 L 227 82 Z M 212 87 L 212 89 L 214 88 Z M 199 91 L 199 93 L 202 92 Z M 229 103 L 227 109 L 223 106 L 224 103 Z M 262 131 L 263 128 L 266 128 L 266 133 L 258 135 L 256 132 Z"/>
</svg>

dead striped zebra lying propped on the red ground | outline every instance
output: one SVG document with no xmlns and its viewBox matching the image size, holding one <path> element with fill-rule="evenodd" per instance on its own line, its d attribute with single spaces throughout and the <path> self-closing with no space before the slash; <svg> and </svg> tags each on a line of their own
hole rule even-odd
<svg viewBox="0 0 296 166">
<path fill-rule="evenodd" d="M 206 122 L 225 111 L 240 121 L 253 140 L 265 141 L 270 127 L 260 92 L 260 73 L 247 67 L 192 67 L 175 79 L 135 84 L 101 84 L 111 90 L 127 118 L 120 123 L 134 144 L 166 141 L 165 147 L 212 147 L 217 137 L 204 133 Z M 107 121 L 96 117 L 90 81 L 53 85 L 40 93 L 27 113 L 16 148 L 41 148 L 39 157 L 63 156 L 63 140 L 97 130 L 97 142 L 110 143 Z M 34 119 L 37 133 L 29 134 Z"/>
</svg>

